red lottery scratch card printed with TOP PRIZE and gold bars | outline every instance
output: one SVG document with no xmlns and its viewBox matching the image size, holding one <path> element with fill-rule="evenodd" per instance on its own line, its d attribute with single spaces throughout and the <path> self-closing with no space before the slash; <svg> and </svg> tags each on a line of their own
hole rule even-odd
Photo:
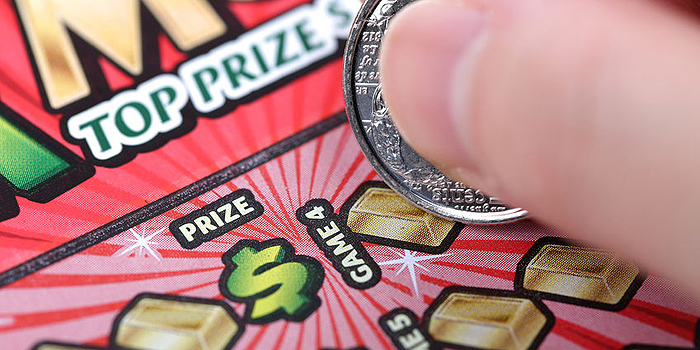
<svg viewBox="0 0 700 350">
<path fill-rule="evenodd" d="M 3 349 L 692 349 L 687 296 L 390 190 L 355 0 L 0 0 Z"/>
</svg>

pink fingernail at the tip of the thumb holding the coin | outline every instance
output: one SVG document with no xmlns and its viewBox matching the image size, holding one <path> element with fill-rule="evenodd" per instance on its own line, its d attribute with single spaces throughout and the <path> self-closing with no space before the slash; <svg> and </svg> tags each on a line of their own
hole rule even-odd
<svg viewBox="0 0 700 350">
<path fill-rule="evenodd" d="M 469 113 L 456 111 L 453 105 L 464 104 L 452 100 L 465 96 L 453 91 L 470 84 L 457 72 L 477 59 L 485 29 L 479 8 L 426 0 L 399 12 L 382 42 L 380 76 L 392 119 L 403 138 L 448 175 L 476 172 L 465 132 Z"/>
</svg>

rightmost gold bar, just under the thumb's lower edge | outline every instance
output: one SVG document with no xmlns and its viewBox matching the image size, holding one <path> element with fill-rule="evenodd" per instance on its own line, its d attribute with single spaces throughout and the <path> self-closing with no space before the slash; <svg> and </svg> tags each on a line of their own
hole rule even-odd
<svg viewBox="0 0 700 350">
<path fill-rule="evenodd" d="M 546 244 L 525 268 L 523 288 L 616 304 L 638 274 L 636 266 L 607 252 Z"/>
</svg>

